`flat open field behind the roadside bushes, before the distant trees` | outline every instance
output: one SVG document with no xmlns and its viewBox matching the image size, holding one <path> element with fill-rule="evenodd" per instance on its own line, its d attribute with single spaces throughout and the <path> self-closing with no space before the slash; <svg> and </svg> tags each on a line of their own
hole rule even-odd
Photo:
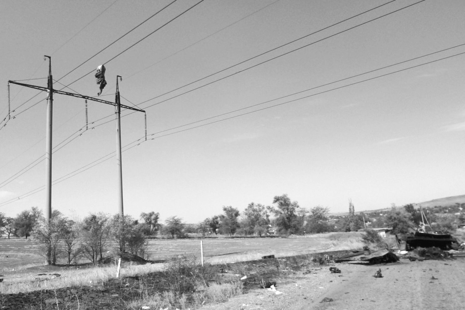
<svg viewBox="0 0 465 310">
<path fill-rule="evenodd" d="M 361 246 L 355 241 L 357 237 L 351 233 L 346 235 L 349 239 L 340 236 L 340 233 L 329 233 L 293 238 L 206 238 L 203 239 L 203 250 L 207 262 L 218 264 L 255 260 L 267 255 L 285 257 L 329 249 L 344 250 L 341 246 L 346 246 L 349 240 L 349 247 Z M 200 257 L 200 239 L 153 239 L 149 241 L 147 252 L 148 259 L 153 261 L 164 261 L 180 255 Z M 18 238 L 0 239 L 0 259 L 0 272 L 44 263 L 35 244 Z M 64 259 L 59 261 L 61 264 L 64 262 Z M 86 259 L 79 261 L 88 262 Z"/>
</svg>

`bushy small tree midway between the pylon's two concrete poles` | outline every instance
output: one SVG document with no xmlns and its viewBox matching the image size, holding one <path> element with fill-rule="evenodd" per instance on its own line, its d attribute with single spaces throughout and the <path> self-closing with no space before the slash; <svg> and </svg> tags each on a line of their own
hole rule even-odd
<svg viewBox="0 0 465 310">
<path fill-rule="evenodd" d="M 93 264 L 103 258 L 110 231 L 108 215 L 91 213 L 80 224 L 82 254 Z"/>
</svg>

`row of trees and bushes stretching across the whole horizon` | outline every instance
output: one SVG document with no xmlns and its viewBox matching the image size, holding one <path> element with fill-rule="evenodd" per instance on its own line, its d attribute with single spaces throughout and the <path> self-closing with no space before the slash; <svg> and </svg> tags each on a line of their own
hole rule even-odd
<svg viewBox="0 0 465 310">
<path fill-rule="evenodd" d="M 425 213 L 434 229 L 454 231 L 465 225 L 462 212 L 465 204 L 449 207 L 425 208 Z M 90 213 L 83 219 L 70 219 L 60 211 L 52 212 L 46 222 L 37 207 L 20 212 L 15 218 L 0 212 L 0 236 L 25 237 L 39 245 L 41 253 L 50 257 L 50 264 L 64 259 L 71 264 L 78 258 L 98 263 L 104 253 L 123 255 L 130 253 L 147 257 L 148 239 L 151 237 L 185 238 L 196 233 L 201 237 L 218 234 L 233 237 L 291 234 L 312 234 L 330 231 L 357 231 L 365 228 L 389 227 L 394 233 L 405 233 L 418 229 L 421 214 L 412 204 L 392 206 L 385 214 L 374 211 L 355 214 L 349 200 L 346 216 L 329 216 L 327 207 L 300 207 L 287 194 L 275 196 L 272 205 L 250 203 L 240 212 L 232 206 L 223 206 L 222 213 L 206 218 L 197 224 L 187 224 L 177 216 L 159 223 L 159 212 L 142 212 L 136 219 L 130 215 L 120 217 L 106 213 Z M 46 253 L 50 251 L 50 256 Z"/>
</svg>

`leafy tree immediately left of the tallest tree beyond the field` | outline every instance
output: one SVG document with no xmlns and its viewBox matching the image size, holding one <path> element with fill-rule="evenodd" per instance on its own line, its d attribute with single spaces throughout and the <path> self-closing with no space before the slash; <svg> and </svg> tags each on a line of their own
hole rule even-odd
<svg viewBox="0 0 465 310">
<path fill-rule="evenodd" d="M 261 237 L 262 234 L 268 231 L 270 214 L 263 204 L 251 202 L 244 210 L 243 215 L 241 226 L 248 234 L 256 233 Z"/>
</svg>

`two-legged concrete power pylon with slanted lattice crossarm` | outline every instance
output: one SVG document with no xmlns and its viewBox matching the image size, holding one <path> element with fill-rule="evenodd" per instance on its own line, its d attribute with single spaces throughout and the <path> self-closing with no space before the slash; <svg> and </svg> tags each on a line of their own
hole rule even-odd
<svg viewBox="0 0 465 310">
<path fill-rule="evenodd" d="M 93 98 L 89 96 L 84 96 L 72 92 L 63 92 L 60 90 L 53 89 L 53 78 L 52 78 L 52 58 L 50 56 L 45 56 L 49 60 L 49 69 L 48 69 L 48 79 L 47 87 L 36 86 L 24 83 L 18 83 L 15 81 L 9 80 L 8 83 L 16 84 L 20 86 L 30 87 L 38 89 L 41 91 L 48 92 L 47 98 L 47 119 L 46 119 L 46 150 L 45 150 L 45 166 L 46 166 L 46 177 L 45 177 L 45 190 L 46 190 L 46 201 L 45 201 L 45 218 L 48 222 L 52 219 L 52 119 L 53 119 L 53 93 L 59 93 L 66 96 L 78 97 L 86 100 L 97 101 L 105 103 L 108 105 L 115 106 L 116 114 L 116 160 L 118 166 L 118 209 L 120 216 L 124 215 L 123 212 L 123 174 L 122 174 L 122 165 L 121 165 L 121 108 L 127 110 L 133 110 L 138 112 L 144 112 L 144 110 L 138 109 L 132 106 L 121 105 L 120 102 L 120 90 L 118 86 L 118 78 L 121 78 L 119 75 L 116 77 L 116 98 L 115 102 L 110 102 L 98 98 Z M 9 86 L 8 86 L 9 87 Z M 146 130 L 147 135 L 147 130 Z M 50 248 L 46 252 L 46 261 L 45 264 L 51 264 L 51 251 Z"/>
</svg>

